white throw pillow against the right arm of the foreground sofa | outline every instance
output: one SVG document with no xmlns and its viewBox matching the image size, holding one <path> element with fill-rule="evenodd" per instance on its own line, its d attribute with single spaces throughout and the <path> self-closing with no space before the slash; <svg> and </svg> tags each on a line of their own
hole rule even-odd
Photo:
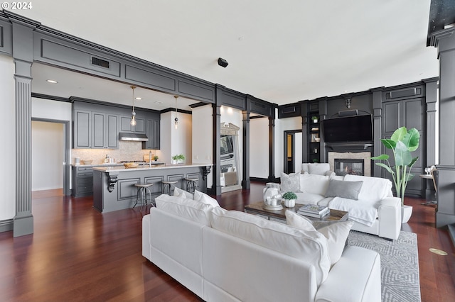
<svg viewBox="0 0 455 302">
<path fill-rule="evenodd" d="M 353 221 L 341 221 L 318 230 L 319 233 L 322 233 L 327 238 L 328 256 L 330 257 L 331 265 L 336 264 L 341 258 L 353 224 Z"/>
</svg>

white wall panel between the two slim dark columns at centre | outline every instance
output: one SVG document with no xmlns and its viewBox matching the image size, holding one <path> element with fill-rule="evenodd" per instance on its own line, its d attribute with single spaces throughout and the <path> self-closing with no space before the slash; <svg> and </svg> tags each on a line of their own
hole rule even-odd
<svg viewBox="0 0 455 302">
<path fill-rule="evenodd" d="M 269 118 L 250 119 L 250 177 L 269 177 Z"/>
</svg>

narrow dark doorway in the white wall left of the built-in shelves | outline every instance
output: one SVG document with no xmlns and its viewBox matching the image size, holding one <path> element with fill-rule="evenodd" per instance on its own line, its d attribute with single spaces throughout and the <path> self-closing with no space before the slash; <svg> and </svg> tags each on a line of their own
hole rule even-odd
<svg viewBox="0 0 455 302">
<path fill-rule="evenodd" d="M 284 173 L 301 171 L 302 164 L 302 133 L 301 130 L 284 131 Z"/>
</svg>

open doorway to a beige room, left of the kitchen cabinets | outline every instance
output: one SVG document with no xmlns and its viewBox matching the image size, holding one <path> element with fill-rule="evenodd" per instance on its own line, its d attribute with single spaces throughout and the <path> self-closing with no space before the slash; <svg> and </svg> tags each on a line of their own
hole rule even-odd
<svg viewBox="0 0 455 302">
<path fill-rule="evenodd" d="M 69 121 L 32 118 L 31 191 L 70 192 Z M 45 175 L 45 177 L 43 177 Z"/>
</svg>

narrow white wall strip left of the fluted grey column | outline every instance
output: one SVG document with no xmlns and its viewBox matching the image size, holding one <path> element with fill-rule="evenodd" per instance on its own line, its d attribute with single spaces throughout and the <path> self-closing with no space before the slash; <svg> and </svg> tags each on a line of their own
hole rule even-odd
<svg viewBox="0 0 455 302">
<path fill-rule="evenodd" d="M 11 57 L 0 55 L 0 125 L 3 161 L 0 174 L 0 221 L 16 215 L 16 88 L 14 62 Z"/>
</svg>

